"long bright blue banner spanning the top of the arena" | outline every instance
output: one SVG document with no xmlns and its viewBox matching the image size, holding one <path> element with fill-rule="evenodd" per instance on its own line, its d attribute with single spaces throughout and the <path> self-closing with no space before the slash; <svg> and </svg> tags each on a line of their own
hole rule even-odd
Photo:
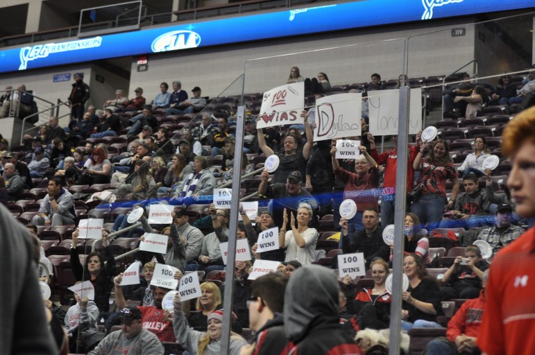
<svg viewBox="0 0 535 355">
<path fill-rule="evenodd" d="M 0 73 L 535 6 L 535 0 L 366 0 L 151 28 L 0 51 Z"/>
</svg>

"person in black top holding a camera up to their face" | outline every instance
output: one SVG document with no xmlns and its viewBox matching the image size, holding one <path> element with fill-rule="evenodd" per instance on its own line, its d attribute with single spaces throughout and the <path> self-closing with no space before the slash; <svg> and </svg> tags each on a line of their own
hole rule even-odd
<svg viewBox="0 0 535 355">
<path fill-rule="evenodd" d="M 477 298 L 481 291 L 483 272 L 489 263 L 482 259 L 481 250 L 468 245 L 464 257 L 457 257 L 448 271 L 444 272 L 440 291 L 443 301 L 453 298 Z"/>
</svg>

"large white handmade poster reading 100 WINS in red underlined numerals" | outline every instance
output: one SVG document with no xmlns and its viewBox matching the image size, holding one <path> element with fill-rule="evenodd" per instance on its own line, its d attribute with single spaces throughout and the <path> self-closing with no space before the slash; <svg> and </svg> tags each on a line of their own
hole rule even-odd
<svg viewBox="0 0 535 355">
<path fill-rule="evenodd" d="M 305 83 L 286 84 L 264 92 L 257 128 L 303 123 Z"/>
</svg>

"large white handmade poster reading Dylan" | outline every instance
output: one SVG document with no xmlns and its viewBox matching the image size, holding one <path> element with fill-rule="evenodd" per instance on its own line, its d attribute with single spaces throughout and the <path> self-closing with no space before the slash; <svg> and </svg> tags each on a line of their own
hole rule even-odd
<svg viewBox="0 0 535 355">
<path fill-rule="evenodd" d="M 362 94 L 337 94 L 316 100 L 314 141 L 360 136 Z"/>
</svg>

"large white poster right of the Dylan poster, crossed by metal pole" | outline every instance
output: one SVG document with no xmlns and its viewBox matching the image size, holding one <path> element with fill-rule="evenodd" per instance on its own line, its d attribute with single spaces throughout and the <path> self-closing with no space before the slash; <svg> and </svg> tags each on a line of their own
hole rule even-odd
<svg viewBox="0 0 535 355">
<path fill-rule="evenodd" d="M 398 134 L 400 91 L 377 90 L 368 92 L 369 130 L 374 136 Z M 416 135 L 422 129 L 422 89 L 411 89 L 409 134 Z"/>
</svg>

